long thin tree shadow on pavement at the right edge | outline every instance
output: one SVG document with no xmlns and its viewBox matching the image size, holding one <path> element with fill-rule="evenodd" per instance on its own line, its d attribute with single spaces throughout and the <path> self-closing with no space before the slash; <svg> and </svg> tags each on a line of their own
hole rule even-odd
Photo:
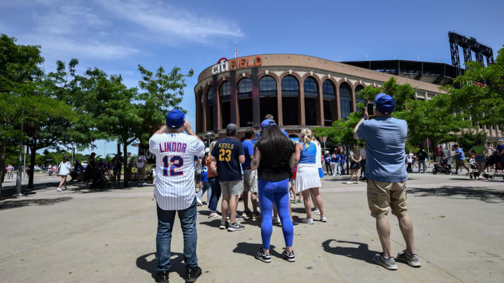
<svg viewBox="0 0 504 283">
<path fill-rule="evenodd" d="M 407 194 L 414 196 L 442 196 L 456 199 L 475 199 L 486 203 L 502 203 L 504 191 L 481 187 L 450 187 L 443 186 L 434 189 L 408 188 Z"/>
</svg>

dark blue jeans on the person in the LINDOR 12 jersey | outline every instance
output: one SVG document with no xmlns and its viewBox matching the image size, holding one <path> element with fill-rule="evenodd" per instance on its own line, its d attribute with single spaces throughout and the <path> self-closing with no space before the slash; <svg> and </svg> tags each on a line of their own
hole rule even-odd
<svg viewBox="0 0 504 283">
<path fill-rule="evenodd" d="M 172 229 L 175 213 L 178 212 L 184 238 L 183 256 L 186 268 L 197 268 L 196 255 L 196 198 L 193 204 L 185 210 L 162 210 L 158 206 L 158 235 L 156 235 L 156 249 L 158 252 L 158 273 L 169 271 L 170 246 L 172 245 Z"/>
</svg>

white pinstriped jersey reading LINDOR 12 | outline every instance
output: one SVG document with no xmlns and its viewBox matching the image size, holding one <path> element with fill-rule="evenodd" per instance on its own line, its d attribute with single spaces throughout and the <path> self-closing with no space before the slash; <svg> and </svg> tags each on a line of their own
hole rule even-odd
<svg viewBox="0 0 504 283">
<path fill-rule="evenodd" d="M 195 200 L 194 157 L 204 143 L 185 133 L 155 134 L 149 150 L 156 156 L 154 195 L 162 210 L 185 210 Z"/>
</svg>

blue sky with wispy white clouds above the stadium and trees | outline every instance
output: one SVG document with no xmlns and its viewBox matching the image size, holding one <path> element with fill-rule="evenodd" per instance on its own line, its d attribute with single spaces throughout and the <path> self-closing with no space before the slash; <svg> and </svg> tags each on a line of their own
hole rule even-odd
<svg viewBox="0 0 504 283">
<path fill-rule="evenodd" d="M 0 0 L 0 33 L 41 45 L 46 71 L 78 58 L 137 85 L 137 65 L 195 75 L 181 106 L 195 122 L 197 75 L 221 57 L 294 53 L 338 61 L 416 59 L 451 64 L 447 33 L 504 44 L 504 1 Z M 116 145 L 96 144 L 114 152 Z M 134 151 L 134 148 L 132 148 Z M 89 152 L 89 150 L 85 150 Z"/>
</svg>

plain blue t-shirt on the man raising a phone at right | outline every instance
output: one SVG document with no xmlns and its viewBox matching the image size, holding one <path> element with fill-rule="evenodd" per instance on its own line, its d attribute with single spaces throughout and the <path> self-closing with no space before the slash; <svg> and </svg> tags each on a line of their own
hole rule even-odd
<svg viewBox="0 0 504 283">
<path fill-rule="evenodd" d="M 365 177 L 378 182 L 405 182 L 407 123 L 393 117 L 364 120 L 357 129 L 367 149 Z"/>
</svg>

